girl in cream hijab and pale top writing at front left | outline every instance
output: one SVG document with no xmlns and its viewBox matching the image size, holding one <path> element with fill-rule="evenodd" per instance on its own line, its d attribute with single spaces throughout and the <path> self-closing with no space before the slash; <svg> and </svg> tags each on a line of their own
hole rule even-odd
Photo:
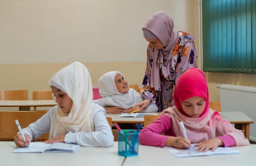
<svg viewBox="0 0 256 166">
<path fill-rule="evenodd" d="M 45 143 L 66 142 L 81 146 L 112 146 L 114 136 L 106 111 L 92 103 L 92 82 L 87 68 L 74 62 L 61 69 L 49 80 L 54 100 L 52 107 L 36 122 L 22 129 L 26 141 L 17 133 L 17 146 L 29 145 L 41 135 L 49 133 Z"/>
</svg>

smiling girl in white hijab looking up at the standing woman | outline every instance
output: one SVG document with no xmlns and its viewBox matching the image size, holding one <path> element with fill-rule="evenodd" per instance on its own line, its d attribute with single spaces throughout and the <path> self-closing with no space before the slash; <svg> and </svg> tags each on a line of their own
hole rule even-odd
<svg viewBox="0 0 256 166">
<path fill-rule="evenodd" d="M 99 94 L 102 98 L 93 100 L 103 106 L 107 113 L 121 114 L 135 110 L 135 104 L 143 101 L 136 90 L 129 88 L 124 75 L 118 71 L 107 72 L 99 79 Z M 158 107 L 150 102 L 148 107 L 137 112 L 157 112 Z"/>
</svg>

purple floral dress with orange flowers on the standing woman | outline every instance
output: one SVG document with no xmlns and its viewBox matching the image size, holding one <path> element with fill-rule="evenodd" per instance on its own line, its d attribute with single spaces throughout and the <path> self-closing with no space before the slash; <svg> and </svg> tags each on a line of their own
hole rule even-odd
<svg viewBox="0 0 256 166">
<path fill-rule="evenodd" d="M 180 74 L 189 68 L 197 68 L 197 55 L 195 50 L 195 44 L 193 42 L 193 36 L 186 32 L 179 31 L 179 38 L 175 44 L 173 51 L 173 57 L 171 61 L 164 66 L 164 55 L 162 50 L 159 50 L 158 62 L 159 62 L 159 73 L 160 73 L 160 83 L 161 91 L 155 91 L 154 87 L 150 87 L 151 80 L 151 70 L 153 65 L 154 49 L 148 44 L 147 49 L 147 66 L 144 76 L 144 80 L 141 86 L 141 94 L 144 99 L 150 99 L 155 101 L 158 107 L 158 111 L 168 108 L 168 103 L 174 105 L 173 102 L 173 92 L 177 79 Z"/>
</svg>

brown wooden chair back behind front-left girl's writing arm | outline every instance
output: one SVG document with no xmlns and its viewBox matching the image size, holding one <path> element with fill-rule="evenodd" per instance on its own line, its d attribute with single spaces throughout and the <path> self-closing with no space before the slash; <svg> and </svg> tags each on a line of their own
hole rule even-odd
<svg viewBox="0 0 256 166">
<path fill-rule="evenodd" d="M 13 141 L 13 137 L 18 133 L 15 120 L 20 122 L 22 128 L 35 122 L 48 111 L 0 111 L 0 141 Z M 46 133 L 36 141 L 48 140 L 49 133 Z"/>
</svg>

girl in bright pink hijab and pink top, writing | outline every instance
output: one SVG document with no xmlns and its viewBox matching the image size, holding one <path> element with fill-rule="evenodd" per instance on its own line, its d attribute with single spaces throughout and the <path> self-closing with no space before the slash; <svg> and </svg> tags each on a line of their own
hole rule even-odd
<svg viewBox="0 0 256 166">
<path fill-rule="evenodd" d="M 195 145 L 198 151 L 250 144 L 242 131 L 209 108 L 207 81 L 201 70 L 190 68 L 180 76 L 174 101 L 175 106 L 162 111 L 155 122 L 142 129 L 139 143 L 178 149 L 198 143 Z M 184 138 L 180 122 L 184 123 L 188 139 Z"/>
</svg>

